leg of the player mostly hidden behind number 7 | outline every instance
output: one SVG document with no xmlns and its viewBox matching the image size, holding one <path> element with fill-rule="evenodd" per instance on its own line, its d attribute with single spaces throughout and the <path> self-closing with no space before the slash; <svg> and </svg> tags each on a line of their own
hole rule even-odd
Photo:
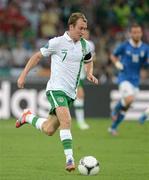
<svg viewBox="0 0 149 180">
<path fill-rule="evenodd" d="M 84 117 L 84 96 L 83 84 L 82 81 L 80 81 L 77 89 L 77 99 L 74 101 L 74 110 L 78 127 L 82 130 L 89 128 Z"/>
</svg>

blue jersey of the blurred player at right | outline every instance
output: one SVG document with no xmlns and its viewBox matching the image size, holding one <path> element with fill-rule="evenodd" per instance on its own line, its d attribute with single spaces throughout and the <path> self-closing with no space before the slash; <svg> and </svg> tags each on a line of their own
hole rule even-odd
<svg viewBox="0 0 149 180">
<path fill-rule="evenodd" d="M 142 42 L 139 47 L 134 47 L 130 41 L 125 41 L 115 49 L 113 55 L 118 57 L 124 66 L 124 69 L 119 71 L 118 83 L 127 80 L 138 87 L 140 69 L 142 65 L 148 64 L 149 46 Z"/>
</svg>

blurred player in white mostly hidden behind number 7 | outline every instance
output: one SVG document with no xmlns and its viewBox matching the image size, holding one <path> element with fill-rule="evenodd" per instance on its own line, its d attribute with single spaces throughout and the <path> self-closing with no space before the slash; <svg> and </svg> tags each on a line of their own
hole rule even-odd
<svg viewBox="0 0 149 180">
<path fill-rule="evenodd" d="M 95 45 L 92 41 L 89 40 L 89 31 L 86 30 L 83 38 L 86 39 L 89 43 L 90 51 L 92 53 L 93 60 L 95 59 Z M 86 73 L 84 69 L 84 64 L 82 65 L 81 69 L 81 75 L 80 75 L 80 81 L 77 88 L 77 99 L 74 101 L 74 110 L 75 110 L 75 117 L 77 120 L 78 127 L 81 130 L 89 129 L 89 125 L 85 121 L 84 117 L 84 98 L 85 98 L 85 92 L 84 92 L 84 80 L 86 78 Z"/>
</svg>

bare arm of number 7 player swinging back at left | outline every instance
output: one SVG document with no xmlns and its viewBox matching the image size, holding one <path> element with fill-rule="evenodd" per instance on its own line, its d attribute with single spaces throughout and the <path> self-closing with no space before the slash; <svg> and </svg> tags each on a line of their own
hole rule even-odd
<svg viewBox="0 0 149 180">
<path fill-rule="evenodd" d="M 42 57 L 42 53 L 38 51 L 29 59 L 28 63 L 26 64 L 25 68 L 18 78 L 17 84 L 19 88 L 24 88 L 25 79 L 28 72 L 38 64 Z"/>
</svg>

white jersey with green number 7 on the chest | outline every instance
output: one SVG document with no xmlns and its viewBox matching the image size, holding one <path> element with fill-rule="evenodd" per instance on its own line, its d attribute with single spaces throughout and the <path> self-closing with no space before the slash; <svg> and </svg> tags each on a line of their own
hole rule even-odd
<svg viewBox="0 0 149 180">
<path fill-rule="evenodd" d="M 61 90 L 75 99 L 82 58 L 83 55 L 90 53 L 88 42 L 86 40 L 85 42 L 86 50 L 84 52 L 81 41 L 74 42 L 65 32 L 63 36 L 50 39 L 48 44 L 40 49 L 43 56 L 51 55 L 51 76 L 46 91 Z"/>
</svg>

